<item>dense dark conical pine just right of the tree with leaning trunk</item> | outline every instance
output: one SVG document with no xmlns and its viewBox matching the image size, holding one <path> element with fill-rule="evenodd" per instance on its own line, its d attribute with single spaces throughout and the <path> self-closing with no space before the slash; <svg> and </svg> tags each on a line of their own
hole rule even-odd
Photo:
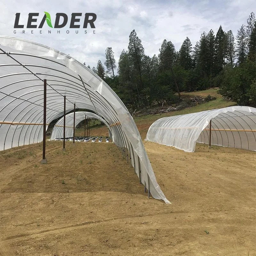
<svg viewBox="0 0 256 256">
<path fill-rule="evenodd" d="M 189 38 L 187 37 L 183 44 L 180 47 L 179 51 L 179 63 L 180 66 L 186 70 L 192 68 L 192 44 Z"/>
</svg>

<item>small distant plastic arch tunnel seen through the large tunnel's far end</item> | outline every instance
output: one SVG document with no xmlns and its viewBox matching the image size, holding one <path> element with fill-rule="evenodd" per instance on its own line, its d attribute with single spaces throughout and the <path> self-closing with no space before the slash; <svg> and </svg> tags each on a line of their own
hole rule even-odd
<svg viewBox="0 0 256 256">
<path fill-rule="evenodd" d="M 104 118 L 102 118 L 101 116 L 96 115 L 94 113 L 86 112 L 86 111 L 76 111 L 75 127 L 81 121 L 85 120 L 85 118 L 87 118 L 87 117 L 92 118 L 92 119 L 98 119 L 102 123 L 104 123 L 108 128 L 109 137 L 112 139 L 113 142 L 115 142 L 114 135 L 112 135 L 112 134 L 115 134 L 115 131 L 113 131 L 113 133 L 112 133 L 112 128 L 108 125 L 107 121 L 104 120 Z M 65 127 L 66 127 L 65 138 L 73 136 L 73 123 L 74 123 L 74 113 L 67 114 L 66 115 L 66 125 L 65 125 Z M 54 140 L 55 138 L 63 138 L 63 136 L 64 136 L 63 128 L 64 128 L 64 116 L 62 118 L 60 118 L 60 120 L 54 125 L 54 127 L 52 129 L 51 140 Z"/>
</svg>

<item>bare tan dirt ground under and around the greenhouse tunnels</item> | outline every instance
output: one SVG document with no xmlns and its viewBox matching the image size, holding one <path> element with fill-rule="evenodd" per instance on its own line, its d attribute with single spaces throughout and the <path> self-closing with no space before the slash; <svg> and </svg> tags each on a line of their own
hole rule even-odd
<svg viewBox="0 0 256 256">
<path fill-rule="evenodd" d="M 1 152 L 0 255 L 256 255 L 255 153 L 145 142 L 172 204 L 143 193 L 112 143 Z"/>
</svg>

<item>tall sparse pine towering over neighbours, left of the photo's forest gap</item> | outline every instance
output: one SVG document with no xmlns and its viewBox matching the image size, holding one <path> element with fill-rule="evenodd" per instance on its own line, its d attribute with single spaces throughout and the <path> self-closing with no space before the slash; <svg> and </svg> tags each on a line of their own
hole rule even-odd
<svg viewBox="0 0 256 256">
<path fill-rule="evenodd" d="M 140 77 L 140 88 L 143 88 L 142 73 L 141 73 L 141 59 L 144 56 L 144 48 L 141 44 L 140 38 L 133 29 L 129 36 L 128 52 L 134 65 L 134 71 L 138 70 Z"/>
</svg>

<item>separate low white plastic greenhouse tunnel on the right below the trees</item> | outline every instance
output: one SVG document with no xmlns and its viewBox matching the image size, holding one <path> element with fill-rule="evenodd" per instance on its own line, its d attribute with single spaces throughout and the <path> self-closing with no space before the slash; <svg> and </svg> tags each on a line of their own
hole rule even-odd
<svg viewBox="0 0 256 256">
<path fill-rule="evenodd" d="M 185 152 L 194 152 L 196 142 L 256 151 L 256 108 L 234 106 L 160 118 L 145 140 Z"/>
</svg>

